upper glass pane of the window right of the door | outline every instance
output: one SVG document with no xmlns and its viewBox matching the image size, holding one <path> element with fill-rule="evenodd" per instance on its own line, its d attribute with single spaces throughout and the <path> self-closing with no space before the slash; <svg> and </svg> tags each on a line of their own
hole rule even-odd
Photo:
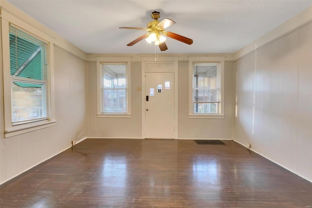
<svg viewBox="0 0 312 208">
<path fill-rule="evenodd" d="M 194 65 L 194 88 L 218 88 L 217 65 L 198 63 Z"/>
</svg>

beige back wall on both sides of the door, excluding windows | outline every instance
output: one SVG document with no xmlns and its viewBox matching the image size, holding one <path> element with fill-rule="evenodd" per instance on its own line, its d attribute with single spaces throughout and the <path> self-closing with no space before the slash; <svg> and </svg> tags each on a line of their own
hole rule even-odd
<svg viewBox="0 0 312 208">
<path fill-rule="evenodd" d="M 234 62 L 225 62 L 225 119 L 189 119 L 188 62 L 178 63 L 178 138 L 232 139 Z M 131 63 L 131 118 L 97 118 L 96 62 L 88 63 L 89 137 L 141 138 L 141 62 Z"/>
</svg>

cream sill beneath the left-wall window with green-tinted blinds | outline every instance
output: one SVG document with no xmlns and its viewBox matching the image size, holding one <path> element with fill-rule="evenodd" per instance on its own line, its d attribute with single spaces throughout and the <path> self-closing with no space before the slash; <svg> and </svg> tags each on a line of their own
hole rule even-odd
<svg viewBox="0 0 312 208">
<path fill-rule="evenodd" d="M 54 126 L 56 122 L 57 121 L 54 120 L 54 121 L 48 121 L 44 123 L 41 122 L 41 123 L 28 124 L 28 125 L 23 125 L 23 126 L 14 126 L 4 131 L 4 137 L 5 138 L 13 137 L 13 136 L 28 133 L 31 131 L 37 131 L 42 128 L 51 127 L 51 126 Z"/>
</svg>

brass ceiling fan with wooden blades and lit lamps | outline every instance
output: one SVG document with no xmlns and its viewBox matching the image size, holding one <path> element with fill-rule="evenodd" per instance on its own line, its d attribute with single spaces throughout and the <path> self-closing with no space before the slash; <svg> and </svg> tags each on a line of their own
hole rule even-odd
<svg viewBox="0 0 312 208">
<path fill-rule="evenodd" d="M 145 39 L 150 44 L 152 44 L 152 42 L 154 42 L 155 45 L 159 46 L 161 51 L 165 51 L 168 49 L 168 47 L 165 43 L 166 37 L 175 39 L 175 40 L 180 41 L 180 42 L 184 42 L 184 43 L 189 44 L 189 45 L 191 45 L 193 43 L 192 39 L 186 38 L 184 36 L 178 35 L 178 34 L 173 33 L 173 32 L 165 31 L 165 28 L 176 23 L 175 21 L 167 19 L 167 18 L 164 19 L 163 21 L 158 21 L 158 19 L 160 18 L 160 13 L 156 12 L 156 11 L 152 12 L 151 17 L 154 21 L 150 21 L 147 24 L 147 28 L 119 27 L 120 29 L 135 29 L 135 30 L 148 31 L 148 33 L 138 37 L 133 42 L 128 43 L 127 46 L 132 46 L 132 45 L 136 44 L 137 42 Z"/>
</svg>

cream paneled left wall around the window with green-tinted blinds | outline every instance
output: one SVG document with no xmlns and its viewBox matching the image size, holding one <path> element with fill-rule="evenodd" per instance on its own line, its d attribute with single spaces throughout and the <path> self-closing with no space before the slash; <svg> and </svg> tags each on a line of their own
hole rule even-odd
<svg viewBox="0 0 312 208">
<path fill-rule="evenodd" d="M 58 47 L 54 51 L 57 123 L 5 139 L 4 134 L 0 134 L 0 183 L 70 147 L 72 140 L 87 137 L 87 64 Z M 2 83 L 2 67 L 0 80 Z M 0 84 L 1 118 L 2 87 Z M 0 120 L 0 132 L 4 132 L 3 119 Z"/>
</svg>

